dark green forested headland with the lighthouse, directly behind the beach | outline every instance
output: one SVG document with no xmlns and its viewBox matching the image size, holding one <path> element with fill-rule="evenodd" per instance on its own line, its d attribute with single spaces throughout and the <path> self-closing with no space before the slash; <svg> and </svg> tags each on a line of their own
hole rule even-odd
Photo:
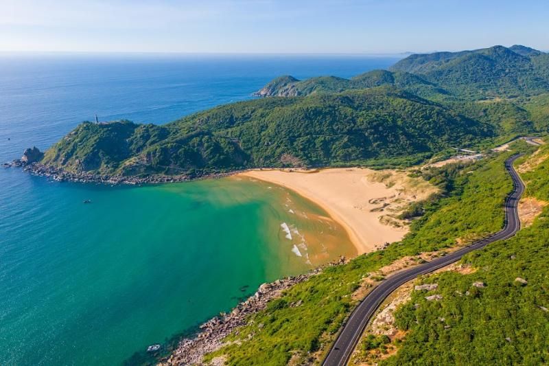
<svg viewBox="0 0 549 366">
<path fill-rule="evenodd" d="M 71 172 L 194 176 L 255 167 L 413 162 L 493 135 L 488 124 L 382 87 L 239 102 L 163 126 L 85 122 L 47 150 L 42 163 Z"/>
</svg>

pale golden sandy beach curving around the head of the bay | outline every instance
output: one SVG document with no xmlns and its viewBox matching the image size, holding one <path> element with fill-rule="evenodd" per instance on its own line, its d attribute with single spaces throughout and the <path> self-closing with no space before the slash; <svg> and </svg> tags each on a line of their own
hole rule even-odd
<svg viewBox="0 0 549 366">
<path fill-rule="evenodd" d="M 401 240 L 408 225 L 398 214 L 436 192 L 423 179 L 395 170 L 249 170 L 238 176 L 281 185 L 314 201 L 347 230 L 358 253 Z"/>
</svg>

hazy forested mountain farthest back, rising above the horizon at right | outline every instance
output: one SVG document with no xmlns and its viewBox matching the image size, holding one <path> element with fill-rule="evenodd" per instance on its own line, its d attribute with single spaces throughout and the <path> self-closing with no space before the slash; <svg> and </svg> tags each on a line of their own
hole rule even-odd
<svg viewBox="0 0 549 366">
<path fill-rule="evenodd" d="M 463 52 L 416 54 L 391 71 L 414 73 L 460 97 L 516 97 L 549 91 L 549 59 L 541 51 L 515 45 Z"/>
</svg>

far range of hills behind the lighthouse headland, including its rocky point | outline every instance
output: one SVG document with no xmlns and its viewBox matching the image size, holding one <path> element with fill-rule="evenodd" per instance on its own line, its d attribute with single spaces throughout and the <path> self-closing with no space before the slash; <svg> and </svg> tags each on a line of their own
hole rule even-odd
<svg viewBox="0 0 549 366">
<path fill-rule="evenodd" d="M 261 96 L 337 93 L 390 85 L 430 100 L 484 100 L 546 93 L 549 55 L 515 45 L 463 52 L 414 54 L 390 71 L 375 70 L 349 80 L 326 76 L 297 80 L 274 79 L 257 92 Z"/>
</svg>

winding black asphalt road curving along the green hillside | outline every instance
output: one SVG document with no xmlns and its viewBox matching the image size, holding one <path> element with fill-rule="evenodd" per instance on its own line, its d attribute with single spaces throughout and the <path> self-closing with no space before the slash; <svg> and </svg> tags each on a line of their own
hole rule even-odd
<svg viewBox="0 0 549 366">
<path fill-rule="evenodd" d="M 513 155 L 505 161 L 505 168 L 511 174 L 513 179 L 514 190 L 507 197 L 505 202 L 505 227 L 498 233 L 493 234 L 489 238 L 484 238 L 478 242 L 474 242 L 469 247 L 464 247 L 454 253 L 445 255 L 444 257 L 436 258 L 431 262 L 415 266 L 413 268 L 401 271 L 385 279 L 381 284 L 375 287 L 371 293 L 366 295 L 359 306 L 355 308 L 351 317 L 344 323 L 343 328 L 336 339 L 334 345 L 332 345 L 327 357 L 325 358 L 323 365 L 325 366 L 342 366 L 347 365 L 351 354 L 355 348 L 355 345 L 360 339 L 360 335 L 366 328 L 366 324 L 370 321 L 371 317 L 375 313 L 375 310 L 379 308 L 384 299 L 390 295 L 394 290 L 399 288 L 402 284 L 424 275 L 436 271 L 439 268 L 452 264 L 460 260 L 463 255 L 485 247 L 491 242 L 497 240 L 504 240 L 515 235 L 520 229 L 519 216 L 517 211 L 517 205 L 522 192 L 524 192 L 524 184 L 519 178 L 519 175 L 513 168 L 513 162 L 519 157 L 519 155 Z"/>
</svg>

